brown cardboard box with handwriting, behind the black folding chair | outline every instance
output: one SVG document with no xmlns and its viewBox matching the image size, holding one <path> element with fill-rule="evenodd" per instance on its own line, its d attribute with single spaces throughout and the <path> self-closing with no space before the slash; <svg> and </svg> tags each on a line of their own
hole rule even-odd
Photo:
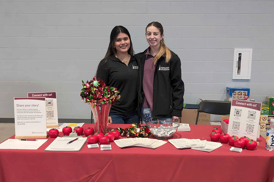
<svg viewBox="0 0 274 182">
<path fill-rule="evenodd" d="M 185 108 L 182 111 L 180 123 L 195 125 L 198 106 L 199 105 L 197 104 L 186 104 Z M 200 112 L 198 118 L 198 125 L 210 125 L 210 114 Z"/>
</svg>

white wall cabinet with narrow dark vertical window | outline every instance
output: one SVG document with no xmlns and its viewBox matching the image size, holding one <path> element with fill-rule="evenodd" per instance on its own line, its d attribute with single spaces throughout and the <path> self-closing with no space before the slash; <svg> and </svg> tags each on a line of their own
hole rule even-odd
<svg viewBox="0 0 274 182">
<path fill-rule="evenodd" d="M 232 79 L 250 79 L 252 49 L 234 49 Z"/>
</svg>

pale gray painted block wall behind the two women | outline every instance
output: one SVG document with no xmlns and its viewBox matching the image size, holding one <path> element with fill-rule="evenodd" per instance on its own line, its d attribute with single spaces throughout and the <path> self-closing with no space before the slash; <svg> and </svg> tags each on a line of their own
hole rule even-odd
<svg viewBox="0 0 274 182">
<path fill-rule="evenodd" d="M 31 2 L 30 2 L 31 1 Z M 226 86 L 251 89 L 257 102 L 274 94 L 274 1 L 0 2 L 0 118 L 13 118 L 13 97 L 56 91 L 59 118 L 89 119 L 81 80 L 92 79 L 115 25 L 128 28 L 136 53 L 145 27 L 164 26 L 178 54 L 185 103 L 224 100 Z M 250 80 L 232 80 L 234 48 L 252 48 Z"/>
</svg>

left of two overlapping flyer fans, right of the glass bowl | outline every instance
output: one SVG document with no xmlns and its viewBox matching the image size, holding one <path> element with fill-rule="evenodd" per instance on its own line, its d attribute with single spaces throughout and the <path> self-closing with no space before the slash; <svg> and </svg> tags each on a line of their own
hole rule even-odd
<svg viewBox="0 0 274 182">
<path fill-rule="evenodd" d="M 204 147 L 206 140 L 178 138 L 168 140 L 176 148 L 191 148 L 191 147 Z"/>
</svg>

